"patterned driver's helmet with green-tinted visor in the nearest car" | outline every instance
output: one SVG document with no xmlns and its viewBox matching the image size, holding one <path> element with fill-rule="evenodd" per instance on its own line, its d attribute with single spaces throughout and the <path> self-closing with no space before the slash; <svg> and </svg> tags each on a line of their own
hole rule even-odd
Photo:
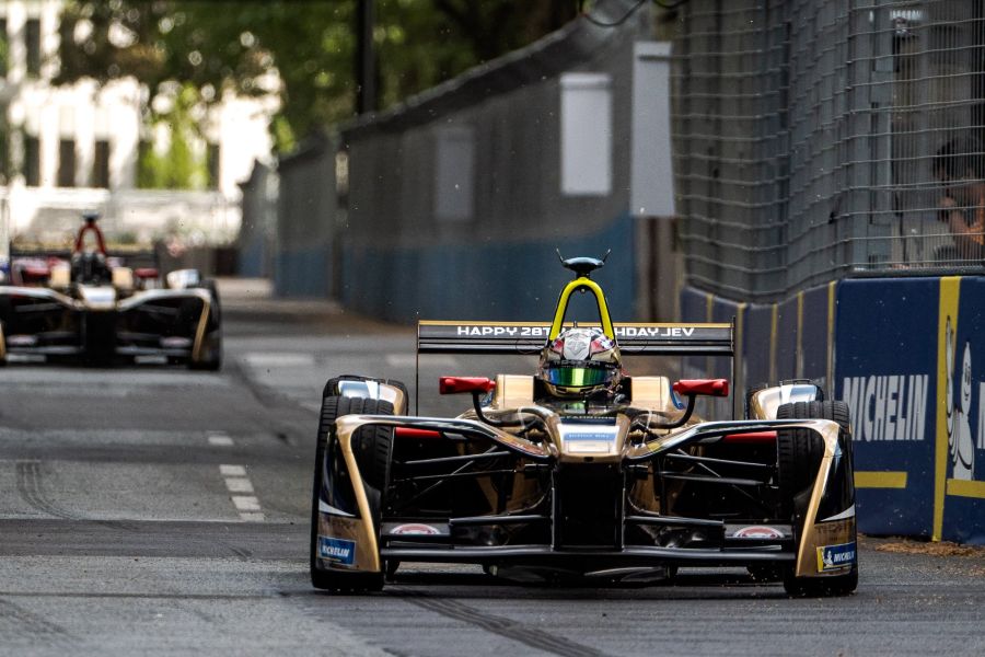
<svg viewBox="0 0 985 657">
<path fill-rule="evenodd" d="M 541 353 L 537 378 L 555 396 L 612 392 L 623 377 L 619 348 L 599 328 L 561 331 Z"/>
</svg>

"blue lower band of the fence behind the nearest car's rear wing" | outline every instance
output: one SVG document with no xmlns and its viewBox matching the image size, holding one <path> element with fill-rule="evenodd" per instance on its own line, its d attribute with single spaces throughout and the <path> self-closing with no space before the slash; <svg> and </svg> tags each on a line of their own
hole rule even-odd
<svg viewBox="0 0 985 657">
<path fill-rule="evenodd" d="M 392 322 L 418 319 L 549 320 L 571 272 L 565 257 L 612 255 L 592 278 L 605 289 L 614 321 L 631 321 L 635 290 L 633 219 L 603 230 L 518 243 L 456 243 L 346 249 L 341 299 L 347 308 Z"/>
</svg>

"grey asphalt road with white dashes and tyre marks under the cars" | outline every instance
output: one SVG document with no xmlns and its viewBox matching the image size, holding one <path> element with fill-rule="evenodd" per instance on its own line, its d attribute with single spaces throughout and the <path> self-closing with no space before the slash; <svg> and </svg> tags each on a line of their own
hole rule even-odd
<svg viewBox="0 0 985 657">
<path fill-rule="evenodd" d="M 250 297 L 225 321 L 220 373 L 0 370 L 0 655 L 985 654 L 985 555 L 873 539 L 843 599 L 789 599 L 738 570 L 548 588 L 414 565 L 382 593 L 315 591 L 321 388 L 343 372 L 413 388 L 414 336 Z M 468 365 L 445 357 L 421 380 Z"/>
</svg>

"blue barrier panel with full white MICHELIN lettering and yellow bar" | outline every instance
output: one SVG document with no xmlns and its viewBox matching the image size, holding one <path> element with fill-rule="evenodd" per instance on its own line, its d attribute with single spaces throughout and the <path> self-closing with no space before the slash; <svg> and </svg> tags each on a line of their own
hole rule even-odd
<svg viewBox="0 0 985 657">
<path fill-rule="evenodd" d="M 835 396 L 851 408 L 862 530 L 930 535 L 939 279 L 838 285 Z"/>
</svg>

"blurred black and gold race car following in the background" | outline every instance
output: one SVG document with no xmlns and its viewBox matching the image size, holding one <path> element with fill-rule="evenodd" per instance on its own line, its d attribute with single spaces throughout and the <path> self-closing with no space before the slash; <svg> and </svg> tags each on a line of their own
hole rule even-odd
<svg viewBox="0 0 985 657">
<path fill-rule="evenodd" d="M 18 354 L 90 365 L 158 357 L 219 369 L 215 284 L 195 269 L 162 281 L 155 267 L 124 266 L 107 255 L 96 216 L 84 221 L 68 260 L 11 261 L 11 285 L 0 285 L 0 365 Z"/>
</svg>

